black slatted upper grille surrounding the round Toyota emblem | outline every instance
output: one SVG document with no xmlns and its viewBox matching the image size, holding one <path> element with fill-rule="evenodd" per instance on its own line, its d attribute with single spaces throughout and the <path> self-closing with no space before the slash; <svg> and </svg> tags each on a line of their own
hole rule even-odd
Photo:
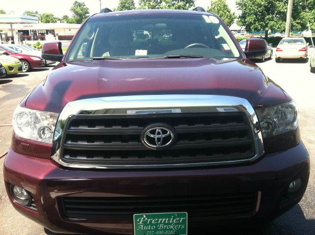
<svg viewBox="0 0 315 235">
<path fill-rule="evenodd" d="M 173 127 L 172 147 L 152 150 L 141 133 L 150 124 Z M 72 116 L 64 131 L 63 161 L 106 166 L 174 165 L 248 160 L 255 156 L 245 113 Z"/>
</svg>

